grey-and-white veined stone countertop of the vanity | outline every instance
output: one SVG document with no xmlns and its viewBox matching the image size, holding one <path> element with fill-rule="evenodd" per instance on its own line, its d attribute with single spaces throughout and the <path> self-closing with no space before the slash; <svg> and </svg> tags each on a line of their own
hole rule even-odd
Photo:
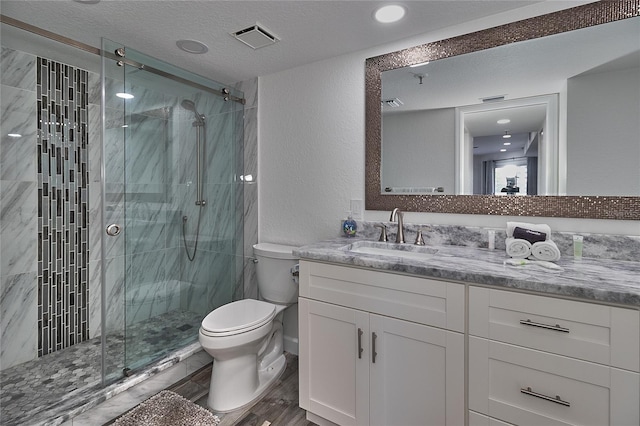
<svg viewBox="0 0 640 426">
<path fill-rule="evenodd" d="M 640 262 L 563 257 L 555 262 L 559 270 L 530 263 L 505 265 L 504 250 L 464 246 L 426 246 L 438 249 L 423 259 L 404 259 L 349 252 L 346 246 L 364 238 L 336 238 L 303 246 L 294 254 L 304 260 L 406 273 L 423 277 L 461 281 L 561 295 L 590 301 L 640 307 Z M 368 240 L 371 241 L 371 240 Z"/>
</svg>

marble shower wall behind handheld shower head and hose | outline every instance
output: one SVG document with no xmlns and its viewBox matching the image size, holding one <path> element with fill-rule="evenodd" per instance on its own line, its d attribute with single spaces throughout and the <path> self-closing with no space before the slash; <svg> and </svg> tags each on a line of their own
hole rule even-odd
<svg viewBox="0 0 640 426">
<path fill-rule="evenodd" d="M 192 100 L 198 113 L 205 116 L 204 207 L 197 206 L 197 164 L 196 132 L 192 126 L 193 113 L 182 109 L 185 119 L 180 119 L 174 140 L 179 141 L 175 152 L 181 157 L 177 162 L 178 170 L 174 179 L 174 210 L 180 226 L 176 231 L 181 250 L 180 262 L 182 275 L 181 307 L 202 317 L 212 309 L 233 298 L 237 285 L 236 267 L 241 258 L 238 250 L 242 245 L 242 205 L 238 207 L 238 197 L 242 196 L 242 185 L 236 180 L 238 154 L 242 152 L 242 140 L 237 134 L 236 121 L 242 120 L 241 105 L 225 102 L 222 98 L 198 93 L 185 94 Z M 240 208 L 240 210 L 238 210 Z M 187 217 L 187 247 L 193 253 L 196 244 L 198 216 L 200 229 L 197 238 L 197 252 L 193 261 L 184 254 L 182 237 L 182 217 Z M 241 278 L 241 275 L 238 277 Z"/>
</svg>

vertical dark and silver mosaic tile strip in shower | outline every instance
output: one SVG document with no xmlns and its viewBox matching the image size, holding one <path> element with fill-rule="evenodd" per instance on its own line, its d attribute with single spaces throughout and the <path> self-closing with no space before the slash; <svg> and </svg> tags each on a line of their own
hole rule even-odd
<svg viewBox="0 0 640 426">
<path fill-rule="evenodd" d="M 89 338 L 88 72 L 38 58 L 38 356 Z"/>
</svg>

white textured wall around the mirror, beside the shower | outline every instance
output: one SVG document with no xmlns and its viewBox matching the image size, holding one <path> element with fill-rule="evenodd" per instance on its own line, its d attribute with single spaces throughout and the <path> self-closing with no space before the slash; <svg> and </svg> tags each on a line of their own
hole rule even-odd
<svg viewBox="0 0 640 426">
<path fill-rule="evenodd" d="M 573 3 L 575 5 L 576 3 Z M 364 199 L 365 59 L 567 7 L 544 2 L 260 78 L 259 239 L 309 244 L 338 234 L 351 199 Z M 366 220 L 389 212 L 367 211 Z M 502 228 L 506 216 L 407 213 L 406 222 Z M 633 221 L 520 218 L 555 230 L 640 235 Z"/>
</svg>

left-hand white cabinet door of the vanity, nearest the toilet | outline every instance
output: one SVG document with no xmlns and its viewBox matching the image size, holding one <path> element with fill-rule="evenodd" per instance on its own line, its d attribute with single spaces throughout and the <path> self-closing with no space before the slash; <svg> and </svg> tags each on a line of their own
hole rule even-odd
<svg viewBox="0 0 640 426">
<path fill-rule="evenodd" d="M 340 425 L 369 424 L 369 314 L 298 303 L 300 407 Z"/>
</svg>

